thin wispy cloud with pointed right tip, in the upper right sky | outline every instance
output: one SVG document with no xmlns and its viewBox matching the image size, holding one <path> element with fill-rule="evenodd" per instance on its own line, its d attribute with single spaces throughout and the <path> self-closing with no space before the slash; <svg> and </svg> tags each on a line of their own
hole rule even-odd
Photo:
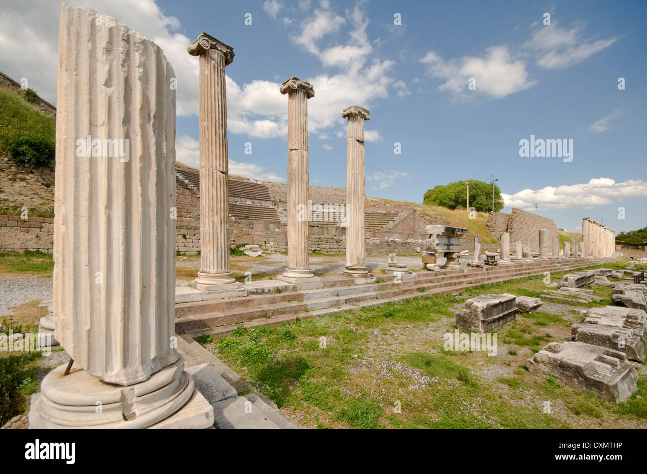
<svg viewBox="0 0 647 474">
<path fill-rule="evenodd" d="M 579 28 L 560 28 L 555 23 L 536 28 L 524 47 L 536 51 L 540 58 L 537 65 L 545 69 L 560 69 L 579 63 L 593 54 L 613 45 L 618 38 L 587 41 Z"/>
</svg>

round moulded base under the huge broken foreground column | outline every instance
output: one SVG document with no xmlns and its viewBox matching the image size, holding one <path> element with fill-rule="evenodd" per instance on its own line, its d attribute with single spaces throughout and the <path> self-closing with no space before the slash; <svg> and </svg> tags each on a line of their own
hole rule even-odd
<svg viewBox="0 0 647 474">
<path fill-rule="evenodd" d="M 184 371 L 181 355 L 148 380 L 128 386 L 102 382 L 73 366 L 63 375 L 65 367 L 49 372 L 41 392 L 32 396 L 30 429 L 204 429 L 214 424 L 214 410 Z"/>
</svg>

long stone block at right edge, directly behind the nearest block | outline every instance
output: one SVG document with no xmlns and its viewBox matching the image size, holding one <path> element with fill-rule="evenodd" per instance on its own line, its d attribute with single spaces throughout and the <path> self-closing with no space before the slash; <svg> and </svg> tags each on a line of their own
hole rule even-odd
<svg viewBox="0 0 647 474">
<path fill-rule="evenodd" d="M 630 329 L 599 324 L 576 324 L 571 327 L 571 334 L 575 341 L 619 350 L 624 352 L 630 360 L 644 360 L 644 343 Z"/>
</svg>

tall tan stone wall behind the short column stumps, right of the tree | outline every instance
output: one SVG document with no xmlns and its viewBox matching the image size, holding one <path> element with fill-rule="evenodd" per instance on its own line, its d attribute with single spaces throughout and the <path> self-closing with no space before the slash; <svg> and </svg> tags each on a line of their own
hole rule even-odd
<svg viewBox="0 0 647 474">
<path fill-rule="evenodd" d="M 521 241 L 524 244 L 530 244 L 531 252 L 539 251 L 540 229 L 547 230 L 549 250 L 553 237 L 558 235 L 557 226 L 551 219 L 517 208 L 512 208 L 510 214 L 491 212 L 488 215 L 485 228 L 497 239 L 501 233 L 508 232 L 510 234 L 510 249 L 514 249 L 516 242 Z"/>
</svg>

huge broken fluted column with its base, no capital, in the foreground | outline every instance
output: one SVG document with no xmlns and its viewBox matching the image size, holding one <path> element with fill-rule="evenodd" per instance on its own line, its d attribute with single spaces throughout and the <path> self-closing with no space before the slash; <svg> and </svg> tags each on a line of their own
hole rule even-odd
<svg viewBox="0 0 647 474">
<path fill-rule="evenodd" d="M 160 427 L 197 400 L 173 343 L 175 74 L 155 43 L 97 17 L 61 5 L 54 325 L 74 362 L 43 379 L 34 428 Z M 205 410 L 194 427 L 213 422 Z"/>
</svg>

